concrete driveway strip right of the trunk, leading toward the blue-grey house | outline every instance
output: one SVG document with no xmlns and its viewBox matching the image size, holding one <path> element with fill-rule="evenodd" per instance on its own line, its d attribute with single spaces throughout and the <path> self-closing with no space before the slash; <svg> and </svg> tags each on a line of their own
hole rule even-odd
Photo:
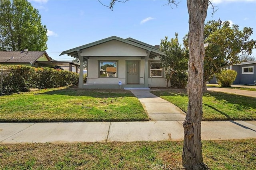
<svg viewBox="0 0 256 170">
<path fill-rule="evenodd" d="M 248 91 L 248 90 L 239 90 L 239 89 L 232 89 L 232 88 L 219 88 L 219 87 L 207 87 L 207 90 L 232 93 L 232 94 L 238 94 L 238 95 L 242 95 L 242 96 L 250 96 L 250 97 L 256 98 L 256 92 Z"/>
</svg>

